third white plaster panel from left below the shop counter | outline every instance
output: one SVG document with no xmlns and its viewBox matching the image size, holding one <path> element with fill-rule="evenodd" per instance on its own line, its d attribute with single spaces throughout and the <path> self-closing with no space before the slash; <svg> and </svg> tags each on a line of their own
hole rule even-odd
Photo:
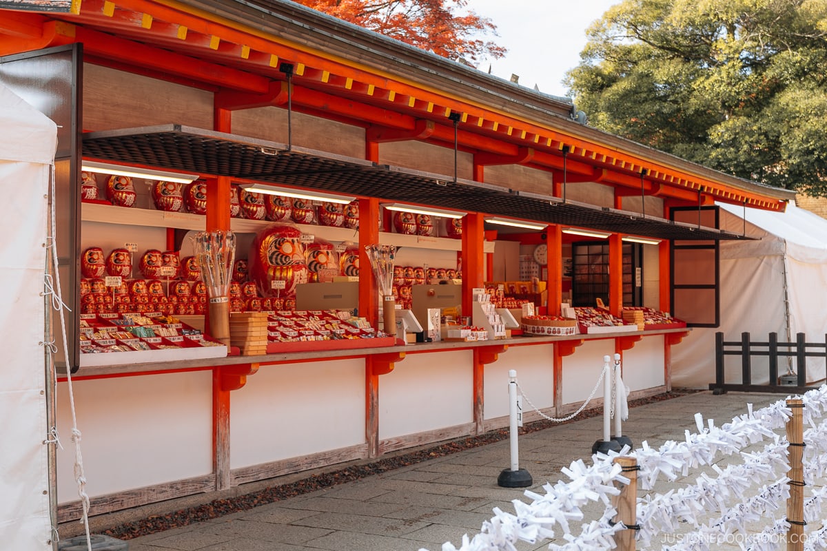
<svg viewBox="0 0 827 551">
<path fill-rule="evenodd" d="M 408 354 L 380 376 L 380 439 L 474 420 L 472 361 L 471 350 Z"/>
</svg>

